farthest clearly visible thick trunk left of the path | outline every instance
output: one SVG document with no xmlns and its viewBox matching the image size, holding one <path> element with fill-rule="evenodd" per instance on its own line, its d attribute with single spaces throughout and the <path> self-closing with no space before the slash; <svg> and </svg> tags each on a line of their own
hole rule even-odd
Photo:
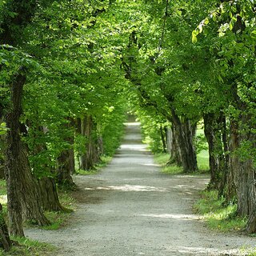
<svg viewBox="0 0 256 256">
<path fill-rule="evenodd" d="M 99 162 L 98 138 L 94 136 L 94 121 L 88 115 L 81 120 L 81 134 L 86 137 L 86 152 L 80 155 L 80 169 L 90 170 Z"/>
</svg>

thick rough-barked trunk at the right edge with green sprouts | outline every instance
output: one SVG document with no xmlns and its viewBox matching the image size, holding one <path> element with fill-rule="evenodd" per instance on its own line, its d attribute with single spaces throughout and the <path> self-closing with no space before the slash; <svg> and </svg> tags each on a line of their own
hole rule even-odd
<svg viewBox="0 0 256 256">
<path fill-rule="evenodd" d="M 238 118 L 230 120 L 230 170 L 238 199 L 238 216 L 248 216 L 246 230 L 256 232 L 256 168 L 254 149 L 256 147 L 255 119 L 252 108 L 238 98 L 237 88 L 233 88 L 234 103 L 240 110 Z M 251 102 L 254 98 L 250 99 Z M 250 127 L 250 129 L 248 129 Z"/>
</svg>

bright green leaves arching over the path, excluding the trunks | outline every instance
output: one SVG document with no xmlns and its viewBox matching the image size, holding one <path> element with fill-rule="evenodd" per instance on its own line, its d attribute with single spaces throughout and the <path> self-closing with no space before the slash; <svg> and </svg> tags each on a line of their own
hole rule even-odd
<svg viewBox="0 0 256 256">
<path fill-rule="evenodd" d="M 10 110 L 12 82 L 22 73 L 22 140 L 38 178 L 56 176 L 63 151 L 86 154 L 89 138 L 78 133 L 77 122 L 88 115 L 95 123 L 92 134 L 102 144 L 100 154 L 113 155 L 128 107 L 138 115 L 144 141 L 154 153 L 166 150 L 161 129 L 170 127 L 173 113 L 192 123 L 222 113 L 225 128 L 237 122 L 240 141 L 232 154 L 222 142 L 221 152 L 214 154 L 250 159 L 255 166 L 254 5 L 0 1 L 0 35 L 5 35 L 0 39 L 0 135 L 8 129 L 2 116 Z M 224 134 L 216 130 L 220 140 L 217 135 Z M 194 144 L 200 169 L 208 169 L 205 137 L 199 134 Z M 178 168 L 166 167 L 173 171 Z"/>
</svg>

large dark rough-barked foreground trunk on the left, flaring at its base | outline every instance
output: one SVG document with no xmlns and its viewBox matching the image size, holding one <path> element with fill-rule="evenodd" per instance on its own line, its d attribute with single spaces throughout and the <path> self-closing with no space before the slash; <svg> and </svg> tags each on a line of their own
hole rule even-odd
<svg viewBox="0 0 256 256">
<path fill-rule="evenodd" d="M 25 81 L 26 77 L 23 74 L 18 74 L 14 78 L 11 88 L 12 106 L 5 118 L 8 127 L 6 136 L 7 206 L 10 234 L 17 236 L 24 236 L 22 219 L 32 219 L 41 226 L 50 223 L 38 204 L 38 191 L 31 174 L 27 147 L 20 135 L 19 119 L 22 114 L 22 90 Z"/>
</svg>

